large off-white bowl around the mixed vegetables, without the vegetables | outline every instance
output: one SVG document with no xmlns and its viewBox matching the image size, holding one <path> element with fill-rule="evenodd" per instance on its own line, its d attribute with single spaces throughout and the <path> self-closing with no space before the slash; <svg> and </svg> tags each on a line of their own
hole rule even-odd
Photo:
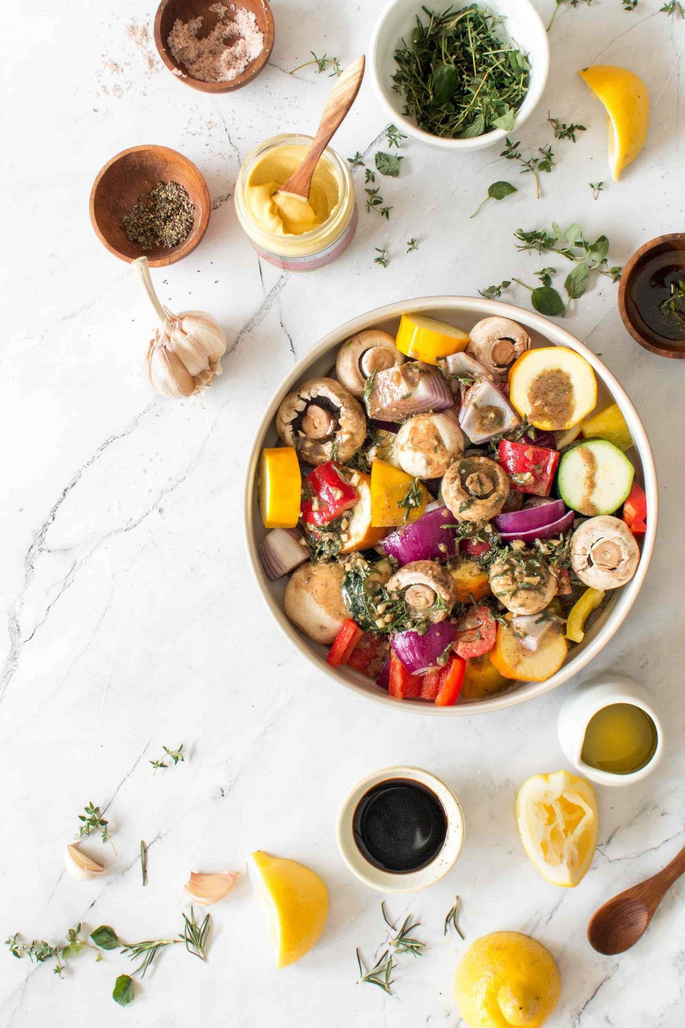
<svg viewBox="0 0 685 1028">
<path fill-rule="evenodd" d="M 642 483 L 647 493 L 647 534 L 644 538 L 638 571 L 626 586 L 612 593 L 610 601 L 585 633 L 583 641 L 570 650 L 570 656 L 561 670 L 547 678 L 546 682 L 512 683 L 505 692 L 497 693 L 482 700 L 460 701 L 453 707 L 436 707 L 434 703 L 399 702 L 392 699 L 375 683 L 357 674 L 350 668 L 331 668 L 326 663 L 328 648 L 313 642 L 312 639 L 299 632 L 285 616 L 283 596 L 287 578 L 281 579 L 279 582 L 269 582 L 261 568 L 257 554 L 257 546 L 266 535 L 266 529 L 262 526 L 259 516 L 256 487 L 257 466 L 262 447 L 275 446 L 277 443 L 275 418 L 279 404 L 299 382 L 330 372 L 335 364 L 338 346 L 355 332 L 373 327 L 385 329 L 394 335 L 399 325 L 400 316 L 412 313 L 430 315 L 432 318 L 448 322 L 464 331 L 472 328 L 481 318 L 489 315 L 500 315 L 526 325 L 534 346 L 548 346 L 553 343 L 569 346 L 581 354 L 585 360 L 589 361 L 597 374 L 598 408 L 602 409 L 609 403 L 615 402 L 627 421 L 630 435 L 635 440 L 635 449 L 628 451 L 627 455 L 636 467 L 637 480 Z M 317 667 L 323 676 L 335 685 L 350 689 L 360 696 L 376 700 L 378 703 L 392 706 L 394 709 L 406 710 L 409 713 L 431 714 L 436 718 L 455 718 L 461 714 L 501 710 L 503 707 L 522 703 L 524 700 L 532 699 L 534 696 L 542 696 L 543 693 L 568 682 L 589 664 L 624 621 L 645 580 L 654 548 L 657 513 L 656 470 L 647 435 L 630 400 L 599 357 L 560 325 L 534 314 L 532 310 L 524 310 L 521 307 L 500 303 L 497 300 L 474 299 L 466 296 L 429 296 L 424 299 L 407 300 L 404 303 L 391 303 L 366 315 L 361 315 L 359 318 L 354 318 L 346 325 L 329 332 L 297 362 L 290 374 L 281 382 L 264 411 L 250 454 L 245 490 L 245 531 L 252 570 L 266 605 L 293 646 Z"/>
</svg>

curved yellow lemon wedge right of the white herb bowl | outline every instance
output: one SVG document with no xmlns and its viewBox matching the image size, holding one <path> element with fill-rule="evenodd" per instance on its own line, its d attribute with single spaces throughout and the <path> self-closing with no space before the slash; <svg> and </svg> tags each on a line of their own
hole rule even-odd
<svg viewBox="0 0 685 1028">
<path fill-rule="evenodd" d="M 592 65 L 578 72 L 607 111 L 609 170 L 614 182 L 638 156 L 649 125 L 649 94 L 635 72 Z"/>
</svg>

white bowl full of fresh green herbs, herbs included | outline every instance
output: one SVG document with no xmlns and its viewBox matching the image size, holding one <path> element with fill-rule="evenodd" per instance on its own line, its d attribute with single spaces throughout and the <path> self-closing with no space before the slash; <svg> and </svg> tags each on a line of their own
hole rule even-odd
<svg viewBox="0 0 685 1028">
<path fill-rule="evenodd" d="M 443 0 L 432 8 L 432 20 L 421 0 L 390 0 L 369 45 L 371 78 L 389 117 L 407 136 L 457 152 L 495 146 L 516 132 L 539 103 L 549 72 L 547 32 L 530 0 L 488 0 L 470 6 L 476 10 L 466 14 L 466 5 L 449 6 Z M 486 13 L 503 21 L 494 26 L 492 20 L 483 20 Z M 417 17 L 424 33 L 430 29 L 428 39 L 412 41 Z M 511 54 L 493 57 L 489 29 L 511 47 Z M 437 48 L 438 34 L 447 40 L 444 60 Z M 402 54 L 399 62 L 396 51 Z M 429 66 L 433 72 L 427 79 Z M 395 84 L 402 84 L 401 91 Z M 422 127 L 416 116 L 403 113 L 407 104 L 421 112 Z M 496 120 L 501 126 L 493 123 Z"/>
</svg>

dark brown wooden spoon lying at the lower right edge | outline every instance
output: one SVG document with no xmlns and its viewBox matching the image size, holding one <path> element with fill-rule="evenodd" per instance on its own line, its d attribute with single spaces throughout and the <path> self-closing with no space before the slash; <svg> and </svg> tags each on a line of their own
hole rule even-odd
<svg viewBox="0 0 685 1028">
<path fill-rule="evenodd" d="M 600 907 L 587 925 L 587 939 L 592 949 L 611 956 L 635 946 L 665 892 L 684 871 L 685 846 L 656 875 L 619 892 Z"/>
</svg>

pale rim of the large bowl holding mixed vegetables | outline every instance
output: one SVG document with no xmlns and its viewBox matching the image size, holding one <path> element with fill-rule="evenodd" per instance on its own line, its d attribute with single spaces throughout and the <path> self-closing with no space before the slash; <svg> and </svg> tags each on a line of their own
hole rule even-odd
<svg viewBox="0 0 685 1028">
<path fill-rule="evenodd" d="M 477 319 L 490 316 L 511 318 L 513 321 L 520 322 L 538 332 L 552 345 L 568 346 L 570 350 L 574 350 L 577 354 L 580 354 L 586 361 L 589 362 L 611 393 L 612 399 L 615 402 L 618 402 L 621 412 L 627 421 L 636 449 L 640 454 L 645 492 L 647 494 L 647 531 L 644 537 L 642 556 L 640 558 L 640 563 L 638 564 L 638 570 L 627 585 L 623 586 L 620 590 L 618 598 L 609 613 L 605 624 L 602 625 L 597 635 L 590 639 L 590 641 L 587 642 L 576 656 L 572 656 L 571 659 L 568 660 L 555 674 L 552 674 L 551 677 L 547 678 L 545 682 L 522 683 L 514 691 L 503 694 L 496 693 L 494 696 L 486 699 L 474 700 L 470 703 L 457 704 L 455 706 L 437 707 L 434 703 L 398 702 L 396 699 L 393 699 L 392 696 L 389 696 L 387 692 L 381 689 L 370 692 L 364 686 L 358 685 L 355 682 L 350 682 L 344 675 L 339 674 L 337 669 L 332 668 L 326 663 L 324 657 L 317 658 L 311 653 L 309 646 L 304 642 L 294 625 L 292 625 L 292 623 L 288 620 L 284 611 L 277 603 L 272 592 L 263 584 L 263 571 L 259 561 L 257 544 L 252 530 L 252 513 L 254 482 L 264 435 L 276 416 L 279 404 L 293 389 L 293 387 L 304 378 L 310 366 L 322 357 L 328 350 L 331 350 L 335 345 L 339 345 L 340 342 L 349 338 L 351 335 L 354 335 L 356 332 L 361 332 L 362 329 L 369 328 L 375 322 L 383 321 L 384 319 L 399 318 L 402 314 L 428 314 L 445 307 L 453 308 L 453 311 L 456 314 L 472 311 Z M 364 699 L 370 699 L 376 703 L 383 703 L 384 705 L 390 706 L 395 710 L 399 709 L 404 710 L 407 713 L 420 713 L 424 717 L 433 718 L 464 717 L 472 713 L 484 713 L 491 710 L 503 710 L 507 707 L 515 706 L 518 703 L 524 703 L 526 700 L 543 696 L 545 693 L 550 692 L 552 689 L 555 689 L 557 686 L 563 685 L 565 682 L 568 682 L 570 678 L 574 677 L 574 675 L 578 674 L 584 667 L 587 666 L 587 664 L 589 664 L 591 660 L 594 659 L 594 657 L 597 657 L 609 639 L 611 639 L 616 633 L 625 620 L 628 611 L 633 607 L 637 595 L 640 592 L 649 568 L 652 552 L 654 550 L 656 524 L 658 519 L 656 468 L 645 428 L 623 387 L 620 386 L 612 372 L 607 368 L 604 362 L 592 353 L 591 350 L 589 350 L 583 342 L 580 342 L 579 339 L 576 339 L 575 336 L 571 335 L 571 333 L 565 328 L 562 328 L 561 325 L 556 325 L 554 322 L 549 321 L 547 318 L 543 318 L 542 315 L 536 314 L 533 310 L 526 310 L 522 307 L 514 306 L 512 303 L 503 303 L 500 300 L 486 300 L 473 296 L 424 296 L 417 297 L 412 300 L 387 303 L 382 307 L 376 307 L 373 310 L 358 315 L 356 318 L 351 319 L 351 321 L 346 322 L 338 328 L 328 332 L 322 339 L 319 340 L 319 342 L 308 350 L 307 353 L 303 354 L 302 357 L 300 357 L 300 359 L 293 365 L 290 372 L 285 376 L 279 388 L 272 396 L 255 434 L 255 440 L 252 444 L 247 465 L 245 491 L 243 497 L 243 518 L 248 558 L 257 583 L 257 587 L 264 602 L 295 649 L 307 657 L 311 663 L 317 665 L 319 670 L 323 671 L 327 678 L 334 682 L 338 687 L 344 686 L 345 688 L 352 690 L 352 692 L 357 693 L 357 695 L 362 696 Z"/>
</svg>

